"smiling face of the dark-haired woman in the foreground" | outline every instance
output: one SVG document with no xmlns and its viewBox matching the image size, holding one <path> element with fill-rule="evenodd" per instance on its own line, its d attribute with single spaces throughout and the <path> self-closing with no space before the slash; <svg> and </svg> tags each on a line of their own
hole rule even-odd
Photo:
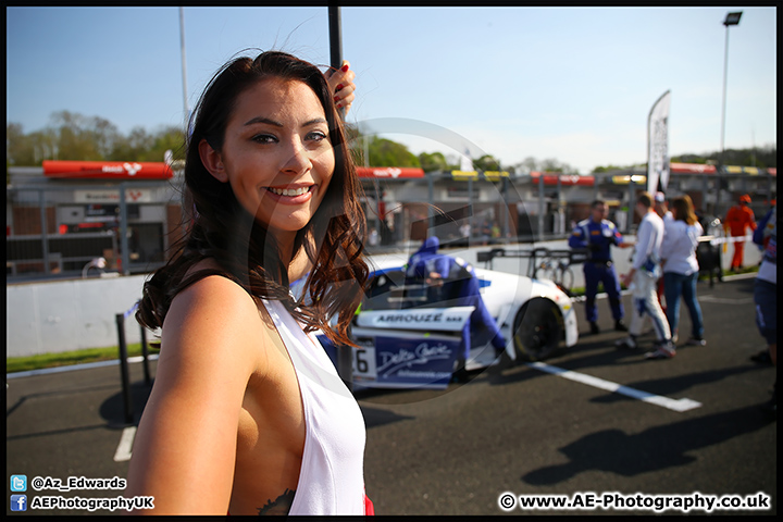
<svg viewBox="0 0 783 522">
<path fill-rule="evenodd" d="M 223 150 L 206 140 L 201 161 L 241 206 L 282 239 L 303 228 L 335 167 L 324 109 L 302 82 L 264 79 L 236 100 Z"/>
</svg>

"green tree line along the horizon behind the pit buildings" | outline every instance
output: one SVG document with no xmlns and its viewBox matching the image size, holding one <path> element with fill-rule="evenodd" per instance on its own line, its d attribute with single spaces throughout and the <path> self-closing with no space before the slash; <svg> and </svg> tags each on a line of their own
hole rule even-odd
<svg viewBox="0 0 783 522">
<path fill-rule="evenodd" d="M 412 166 L 424 172 L 455 171 L 460 169 L 458 154 L 443 152 L 412 153 L 407 146 L 374 135 L 362 135 L 356 126 L 348 126 L 353 159 L 358 165 L 368 166 Z M 70 111 L 55 112 L 50 124 L 41 130 L 25 133 L 18 123 L 5 126 L 5 165 L 37 166 L 44 160 L 80 161 L 163 161 L 166 150 L 174 158 L 184 157 L 184 129 L 176 126 L 161 126 L 151 132 L 137 126 L 125 135 L 117 127 L 99 116 L 85 116 Z M 710 163 L 757 166 L 761 169 L 778 165 L 776 145 L 753 149 L 729 149 L 723 154 L 681 154 L 672 162 Z M 473 169 L 478 171 L 508 171 L 511 174 L 531 171 L 579 174 L 569 165 L 554 158 L 538 160 L 527 157 L 519 163 L 501 164 L 493 154 L 473 159 Z M 625 170 L 636 165 L 598 165 L 593 173 Z M 8 179 L 8 175 L 7 175 Z"/>
</svg>

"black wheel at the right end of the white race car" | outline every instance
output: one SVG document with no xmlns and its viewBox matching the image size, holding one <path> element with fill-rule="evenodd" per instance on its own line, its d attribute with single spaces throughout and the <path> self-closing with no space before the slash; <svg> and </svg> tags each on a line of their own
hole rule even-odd
<svg viewBox="0 0 783 522">
<path fill-rule="evenodd" d="M 540 361 L 560 347 L 563 320 L 549 299 L 536 298 L 517 313 L 513 326 L 517 356 L 523 361 Z"/>
</svg>

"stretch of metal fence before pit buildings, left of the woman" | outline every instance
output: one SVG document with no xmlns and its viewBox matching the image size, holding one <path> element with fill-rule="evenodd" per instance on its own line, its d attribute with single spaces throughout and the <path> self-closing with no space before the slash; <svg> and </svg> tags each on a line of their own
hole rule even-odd
<svg viewBox="0 0 783 522">
<path fill-rule="evenodd" d="M 154 270 L 181 220 L 170 192 L 165 182 L 7 188 L 8 279 Z"/>
</svg>

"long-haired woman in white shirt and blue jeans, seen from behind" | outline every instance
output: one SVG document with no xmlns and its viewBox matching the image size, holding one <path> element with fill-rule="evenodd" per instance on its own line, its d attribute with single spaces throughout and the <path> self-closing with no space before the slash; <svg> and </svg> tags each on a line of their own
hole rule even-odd
<svg viewBox="0 0 783 522">
<path fill-rule="evenodd" d="M 689 346 L 705 346 L 701 307 L 696 299 L 698 261 L 696 248 L 704 228 L 696 219 L 691 197 L 685 195 L 672 201 L 672 217 L 664 221 L 661 259 L 663 263 L 663 295 L 666 296 L 666 315 L 672 337 L 676 336 L 680 322 L 680 297 L 691 313 Z"/>
</svg>

